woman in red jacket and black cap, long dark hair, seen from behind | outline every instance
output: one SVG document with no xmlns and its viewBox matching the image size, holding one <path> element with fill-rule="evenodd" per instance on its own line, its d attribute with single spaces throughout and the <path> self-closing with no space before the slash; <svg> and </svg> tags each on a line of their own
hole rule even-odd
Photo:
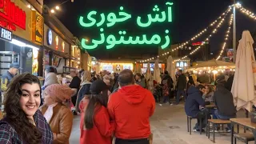
<svg viewBox="0 0 256 144">
<path fill-rule="evenodd" d="M 90 86 L 90 93 L 81 101 L 81 144 L 111 144 L 114 122 L 106 109 L 108 87 L 102 80 L 96 80 Z"/>
</svg>

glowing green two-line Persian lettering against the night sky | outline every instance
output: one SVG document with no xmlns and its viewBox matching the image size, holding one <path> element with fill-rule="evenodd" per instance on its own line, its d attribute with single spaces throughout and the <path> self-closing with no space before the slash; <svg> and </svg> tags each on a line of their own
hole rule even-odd
<svg viewBox="0 0 256 144">
<path fill-rule="evenodd" d="M 166 6 L 168 7 L 167 10 L 160 11 L 158 6 L 154 6 L 153 14 L 147 14 L 147 20 L 138 16 L 136 18 L 137 25 L 142 28 L 149 28 L 149 26 L 153 25 L 154 23 L 162 23 L 162 22 L 172 22 L 172 2 L 166 2 Z M 100 17 L 100 20 L 97 21 L 95 17 Z M 87 22 L 85 19 L 88 19 Z M 125 22 L 130 18 L 133 18 L 131 14 L 128 14 L 124 11 L 124 8 L 121 6 L 120 11 L 117 14 L 110 13 L 110 14 L 98 14 L 97 11 L 90 11 L 87 14 L 87 17 L 84 18 L 80 16 L 79 23 L 83 27 L 111 27 L 117 23 Z M 143 20 L 142 20 L 143 19 Z M 115 37 L 113 34 L 109 34 L 106 36 L 104 34 L 104 29 L 100 28 L 100 38 L 99 39 L 92 39 L 91 42 L 88 42 L 86 38 L 82 38 L 82 47 L 85 49 L 95 49 L 99 45 L 106 43 L 106 49 L 111 49 L 116 45 L 158 45 L 161 46 L 162 49 L 170 46 L 170 34 L 169 30 L 165 30 L 164 38 L 161 38 L 159 34 L 151 35 L 151 37 L 147 34 L 142 34 L 139 36 L 127 36 L 125 30 L 120 30 L 118 32 L 118 38 Z"/>
</svg>

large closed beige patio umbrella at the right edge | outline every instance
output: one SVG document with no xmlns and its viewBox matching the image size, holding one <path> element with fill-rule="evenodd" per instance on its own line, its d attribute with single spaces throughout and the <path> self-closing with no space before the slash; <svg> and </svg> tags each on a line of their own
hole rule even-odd
<svg viewBox="0 0 256 144">
<path fill-rule="evenodd" d="M 242 32 L 236 56 L 236 68 L 232 85 L 234 104 L 237 110 L 251 111 L 256 104 L 256 64 L 253 50 L 254 40 L 248 30 Z"/>
</svg>

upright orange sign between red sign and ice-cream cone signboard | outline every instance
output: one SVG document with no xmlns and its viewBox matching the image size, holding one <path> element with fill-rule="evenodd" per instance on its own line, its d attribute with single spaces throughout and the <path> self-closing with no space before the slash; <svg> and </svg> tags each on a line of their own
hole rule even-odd
<svg viewBox="0 0 256 144">
<path fill-rule="evenodd" d="M 32 11 L 32 42 L 42 45 L 43 18 L 36 11 Z"/>
</svg>

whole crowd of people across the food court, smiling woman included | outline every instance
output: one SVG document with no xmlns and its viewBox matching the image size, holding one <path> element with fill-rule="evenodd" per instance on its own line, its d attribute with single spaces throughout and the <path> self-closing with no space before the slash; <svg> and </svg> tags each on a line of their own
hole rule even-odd
<svg viewBox="0 0 256 144">
<path fill-rule="evenodd" d="M 166 71 L 160 83 L 152 75 L 133 74 L 131 70 L 120 74 L 79 70 L 71 71 L 72 80 L 62 83 L 56 69 L 47 66 L 41 86 L 36 76 L 17 74 L 18 69 L 14 63 L 2 76 L 6 116 L 0 121 L 0 143 L 68 144 L 73 117 L 81 114 L 80 143 L 149 144 L 150 117 L 156 102 L 160 106 L 178 105 L 181 96 L 186 99 L 186 114 L 198 121 L 201 118 L 202 127 L 206 126 L 208 114 L 220 119 L 236 116 L 229 90 L 232 77 L 224 75 L 212 86 L 194 82 L 196 77 L 183 74 L 182 70 L 178 71 L 176 82 Z M 204 108 L 210 102 L 215 103 L 216 110 Z M 194 131 L 198 130 L 199 122 L 194 126 Z"/>
</svg>

